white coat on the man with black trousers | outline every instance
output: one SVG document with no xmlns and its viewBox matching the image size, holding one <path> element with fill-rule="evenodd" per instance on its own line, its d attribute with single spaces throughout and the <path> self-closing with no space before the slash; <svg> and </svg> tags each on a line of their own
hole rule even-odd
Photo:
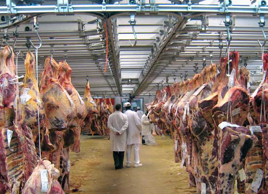
<svg viewBox="0 0 268 194">
<path fill-rule="evenodd" d="M 112 151 L 125 151 L 128 124 L 128 117 L 120 111 L 115 111 L 108 117 Z M 116 132 L 119 132 L 120 135 L 116 135 Z"/>
</svg>

